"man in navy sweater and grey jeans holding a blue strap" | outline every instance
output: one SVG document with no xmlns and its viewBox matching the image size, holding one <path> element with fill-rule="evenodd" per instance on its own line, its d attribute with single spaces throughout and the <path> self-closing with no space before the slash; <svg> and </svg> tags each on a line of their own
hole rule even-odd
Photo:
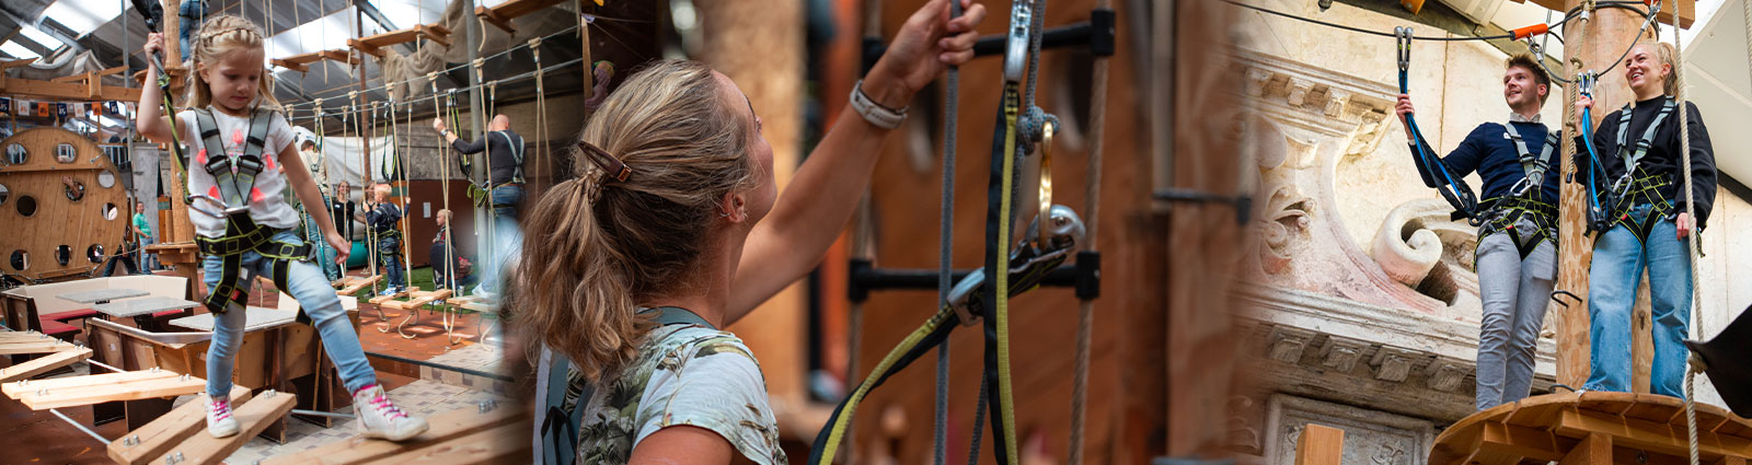
<svg viewBox="0 0 1752 465">
<path fill-rule="evenodd" d="M 1479 203 L 1479 320 L 1477 407 L 1515 402 L 1533 388 L 1533 351 L 1545 320 L 1545 302 L 1558 274 L 1558 170 L 1552 164 L 1556 136 L 1540 124 L 1538 108 L 1551 91 L 1551 79 L 1531 54 L 1508 58 L 1503 72 L 1507 122 L 1473 128 L 1440 164 L 1456 178 L 1479 173 L 1484 201 Z M 1400 122 L 1412 114 L 1412 100 L 1400 94 Z M 1421 138 L 1405 128 L 1412 143 Z M 1412 147 L 1416 157 L 1417 147 Z M 1433 149 L 1424 149 L 1433 152 Z M 1416 157 L 1424 185 L 1437 178 Z"/>
</svg>

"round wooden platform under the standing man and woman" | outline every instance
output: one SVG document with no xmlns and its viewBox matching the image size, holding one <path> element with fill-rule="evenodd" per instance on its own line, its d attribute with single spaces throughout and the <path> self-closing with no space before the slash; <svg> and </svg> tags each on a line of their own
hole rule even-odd
<svg viewBox="0 0 1752 465">
<path fill-rule="evenodd" d="M 1698 404 L 1703 463 L 1745 465 L 1752 421 Z M 1496 406 L 1437 437 L 1430 465 L 1685 463 L 1684 400 L 1621 392 L 1554 393 Z"/>
</svg>

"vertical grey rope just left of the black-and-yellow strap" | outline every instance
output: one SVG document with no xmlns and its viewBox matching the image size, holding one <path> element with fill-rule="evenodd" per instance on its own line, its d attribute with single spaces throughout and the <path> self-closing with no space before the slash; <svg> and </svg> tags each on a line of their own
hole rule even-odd
<svg viewBox="0 0 1752 465">
<path fill-rule="evenodd" d="M 950 2 L 950 17 L 962 16 L 962 2 Z M 960 91 L 960 66 L 950 66 L 944 77 L 946 96 L 943 101 L 943 219 L 939 220 L 941 245 L 937 250 L 937 306 L 950 304 L 950 267 L 955 252 L 955 117 Z M 965 322 L 962 322 L 965 323 Z M 950 337 L 937 344 L 937 414 L 930 425 L 930 446 L 936 465 L 948 460 L 950 430 Z"/>
</svg>

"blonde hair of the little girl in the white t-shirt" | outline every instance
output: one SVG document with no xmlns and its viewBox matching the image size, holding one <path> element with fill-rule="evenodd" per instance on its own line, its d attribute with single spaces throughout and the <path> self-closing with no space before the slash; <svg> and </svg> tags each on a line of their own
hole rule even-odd
<svg viewBox="0 0 1752 465">
<path fill-rule="evenodd" d="M 189 42 L 187 51 L 187 54 L 194 58 L 194 72 L 189 73 L 194 84 L 187 86 L 187 105 L 191 108 L 203 108 L 214 101 L 212 84 L 207 84 L 207 77 L 201 75 L 205 66 L 210 66 L 226 54 L 240 49 L 258 49 L 266 52 L 266 38 L 263 37 L 265 35 L 256 23 L 240 16 L 221 14 L 201 21 L 201 31 Z M 270 110 L 280 108 L 280 100 L 273 98 L 273 72 L 266 66 L 261 68 L 261 79 L 256 80 L 256 101 L 251 101 L 251 105 Z"/>
</svg>

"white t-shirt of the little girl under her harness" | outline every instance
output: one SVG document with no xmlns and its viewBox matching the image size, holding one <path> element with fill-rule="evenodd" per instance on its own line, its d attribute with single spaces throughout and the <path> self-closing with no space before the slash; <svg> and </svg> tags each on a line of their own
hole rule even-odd
<svg viewBox="0 0 1752 465">
<path fill-rule="evenodd" d="M 249 138 L 249 117 L 233 117 L 219 108 L 208 107 L 214 114 L 214 122 L 219 124 L 219 145 L 224 147 L 224 156 L 242 156 L 244 140 Z M 207 143 L 200 138 L 200 129 L 194 126 L 194 112 L 177 114 L 177 135 L 179 142 L 187 149 L 189 154 L 189 194 L 196 198 L 212 198 L 217 203 L 194 199 L 196 206 L 207 212 L 223 212 L 219 208 L 224 205 L 224 196 L 219 194 L 219 184 L 214 177 L 207 173 Z M 286 194 L 286 173 L 280 171 L 280 149 L 293 143 L 293 126 L 286 122 L 286 115 L 275 112 L 268 119 L 268 136 L 266 143 L 261 147 L 261 173 L 256 175 L 256 187 L 247 194 L 249 201 L 249 219 L 256 220 L 259 226 L 266 227 L 294 227 L 298 226 L 298 210 L 294 210 L 287 201 Z M 201 212 L 189 212 L 189 219 L 194 222 L 194 232 L 207 238 L 224 236 L 224 219 L 214 219 Z"/>
</svg>

